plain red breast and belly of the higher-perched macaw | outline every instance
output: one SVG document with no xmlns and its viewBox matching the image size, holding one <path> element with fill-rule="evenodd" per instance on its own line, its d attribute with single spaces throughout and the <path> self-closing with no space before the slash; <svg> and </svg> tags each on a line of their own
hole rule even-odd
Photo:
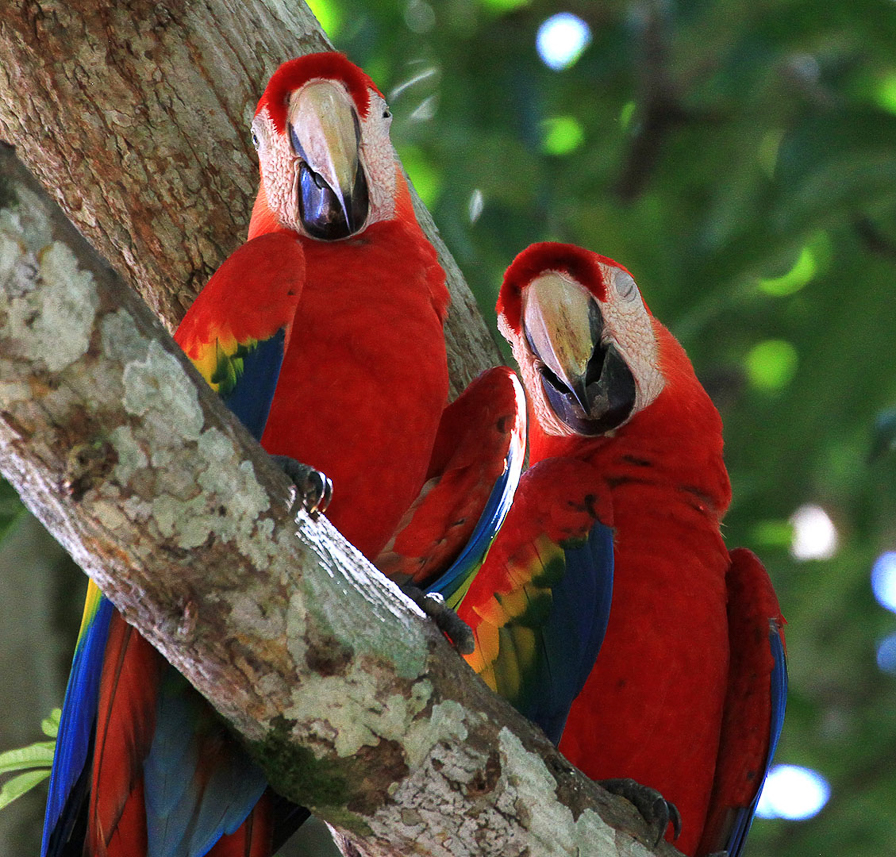
<svg viewBox="0 0 896 857">
<path fill-rule="evenodd" d="M 448 397 L 444 274 L 416 223 L 302 244 L 305 288 L 261 443 L 333 480 L 327 517 L 373 558 L 420 493 Z"/>
</svg>

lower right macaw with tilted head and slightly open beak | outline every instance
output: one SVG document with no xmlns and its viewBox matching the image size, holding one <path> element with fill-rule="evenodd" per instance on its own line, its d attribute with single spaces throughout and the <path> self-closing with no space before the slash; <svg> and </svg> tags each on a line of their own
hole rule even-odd
<svg viewBox="0 0 896 857">
<path fill-rule="evenodd" d="M 458 611 L 479 643 L 470 661 L 500 692 L 528 681 L 542 693 L 530 679 L 538 650 L 505 626 L 532 611 L 523 582 L 543 544 L 559 554 L 595 522 L 611 524 L 612 609 L 597 660 L 587 661 L 593 643 L 567 638 L 565 653 L 556 643 L 557 663 L 587 676 L 560 750 L 594 779 L 659 791 L 680 811 L 685 854 L 734 855 L 783 720 L 784 620 L 758 560 L 722 541 L 730 486 L 718 412 L 631 274 L 606 257 L 532 245 L 507 270 L 498 317 L 528 394 L 532 467 Z M 539 480 L 550 468 L 567 475 Z M 585 579 L 591 588 L 564 602 L 573 629 L 604 621 L 582 615 L 595 603 L 609 609 Z"/>
</svg>

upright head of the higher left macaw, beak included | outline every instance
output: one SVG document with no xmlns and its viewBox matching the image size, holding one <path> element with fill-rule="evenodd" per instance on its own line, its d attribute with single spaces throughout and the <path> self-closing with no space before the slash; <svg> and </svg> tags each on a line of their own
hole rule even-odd
<svg viewBox="0 0 896 857">
<path fill-rule="evenodd" d="M 252 142 L 261 189 L 253 212 L 266 229 L 348 238 L 392 217 L 392 114 L 373 81 L 343 54 L 308 54 L 280 66 L 258 102 Z M 250 237 L 260 231 L 250 228 Z"/>
</svg>

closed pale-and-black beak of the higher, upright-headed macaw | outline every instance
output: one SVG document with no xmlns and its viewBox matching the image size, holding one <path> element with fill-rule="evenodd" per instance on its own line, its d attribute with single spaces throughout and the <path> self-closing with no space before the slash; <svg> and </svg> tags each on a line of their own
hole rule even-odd
<svg viewBox="0 0 896 857">
<path fill-rule="evenodd" d="M 351 98 L 338 83 L 317 80 L 290 98 L 289 139 L 300 159 L 299 219 L 325 241 L 364 227 L 369 209 L 360 159 L 361 130 Z"/>
</svg>

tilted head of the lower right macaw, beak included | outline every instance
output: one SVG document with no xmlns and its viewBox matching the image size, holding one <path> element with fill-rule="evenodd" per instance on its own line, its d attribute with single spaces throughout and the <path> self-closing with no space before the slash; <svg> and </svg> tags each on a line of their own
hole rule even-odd
<svg viewBox="0 0 896 857">
<path fill-rule="evenodd" d="M 533 244 L 507 269 L 497 310 L 546 435 L 610 433 L 665 386 L 658 322 L 612 259 L 572 244 Z"/>
</svg>

